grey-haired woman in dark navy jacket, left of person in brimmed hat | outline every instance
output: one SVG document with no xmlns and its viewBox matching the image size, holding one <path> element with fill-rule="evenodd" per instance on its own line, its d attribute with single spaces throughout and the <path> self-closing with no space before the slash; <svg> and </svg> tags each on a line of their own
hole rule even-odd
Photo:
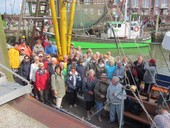
<svg viewBox="0 0 170 128">
<path fill-rule="evenodd" d="M 94 70 L 90 69 L 88 72 L 88 76 L 84 78 L 82 85 L 88 119 L 90 119 L 90 110 L 93 108 L 95 104 L 94 88 L 97 83 L 97 78 L 94 77 L 94 74 L 95 74 Z"/>
</svg>

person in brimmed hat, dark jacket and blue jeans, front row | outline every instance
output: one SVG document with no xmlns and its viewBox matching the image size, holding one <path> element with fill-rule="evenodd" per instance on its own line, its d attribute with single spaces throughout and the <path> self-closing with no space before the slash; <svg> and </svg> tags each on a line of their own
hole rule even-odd
<svg viewBox="0 0 170 128">
<path fill-rule="evenodd" d="M 96 84 L 94 88 L 94 94 L 95 94 L 95 101 L 96 101 L 96 110 L 99 111 L 97 113 L 98 121 L 102 122 L 101 119 L 101 109 L 104 106 L 104 102 L 106 101 L 106 94 L 107 94 L 107 88 L 109 86 L 109 82 L 107 80 L 106 73 L 102 73 L 100 75 L 100 80 Z"/>
</svg>

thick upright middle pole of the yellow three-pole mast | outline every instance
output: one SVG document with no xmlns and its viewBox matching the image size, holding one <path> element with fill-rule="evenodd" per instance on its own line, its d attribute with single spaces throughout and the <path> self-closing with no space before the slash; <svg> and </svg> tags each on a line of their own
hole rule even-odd
<svg viewBox="0 0 170 128">
<path fill-rule="evenodd" d="M 66 16 L 66 2 L 60 0 L 60 39 L 62 55 L 67 55 L 67 16 Z"/>
</svg>

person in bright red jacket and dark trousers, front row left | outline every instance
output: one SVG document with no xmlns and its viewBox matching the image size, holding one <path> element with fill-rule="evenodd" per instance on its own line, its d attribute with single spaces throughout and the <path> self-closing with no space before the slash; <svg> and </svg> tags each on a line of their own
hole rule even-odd
<svg viewBox="0 0 170 128">
<path fill-rule="evenodd" d="M 48 102 L 49 93 L 49 72 L 44 68 L 43 63 L 39 63 L 39 69 L 35 74 L 35 86 L 38 89 L 40 101 Z"/>
</svg>

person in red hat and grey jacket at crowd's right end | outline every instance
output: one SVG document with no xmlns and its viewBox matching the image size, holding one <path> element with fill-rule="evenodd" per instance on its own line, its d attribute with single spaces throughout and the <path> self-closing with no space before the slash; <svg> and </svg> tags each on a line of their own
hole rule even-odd
<svg viewBox="0 0 170 128">
<path fill-rule="evenodd" d="M 145 64 L 144 70 L 146 71 L 143 77 L 145 87 L 144 91 L 147 93 L 147 101 L 150 100 L 152 86 L 155 84 L 155 75 L 156 75 L 156 60 L 150 59 L 149 64 Z"/>
</svg>

